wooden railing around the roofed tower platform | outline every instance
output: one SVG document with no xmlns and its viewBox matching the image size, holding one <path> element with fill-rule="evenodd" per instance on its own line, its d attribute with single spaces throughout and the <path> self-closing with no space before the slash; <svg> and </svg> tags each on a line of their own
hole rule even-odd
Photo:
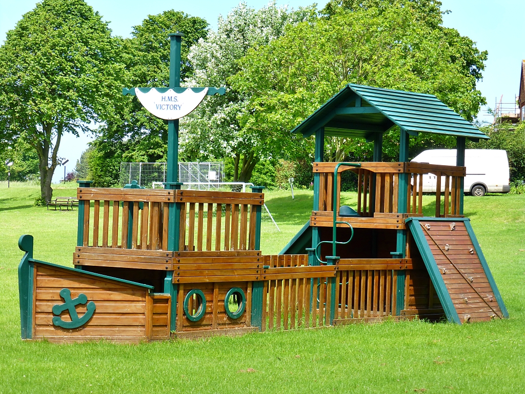
<svg viewBox="0 0 525 394">
<path fill-rule="evenodd" d="M 399 177 L 408 174 L 407 206 L 409 214 L 423 213 L 423 174 L 434 174 L 436 186 L 436 216 L 459 215 L 460 184 L 465 177 L 465 167 L 434 165 L 426 163 L 398 162 L 363 162 L 360 168 L 340 167 L 338 172 L 352 171 L 358 175 L 357 212 L 362 217 L 382 217 L 385 214 L 399 213 Z M 319 174 L 319 210 L 332 212 L 334 205 L 339 211 L 341 177 L 337 184 L 333 182 L 333 171 L 337 163 L 313 163 L 313 173 Z M 444 177 L 444 185 L 442 185 Z M 333 188 L 337 188 L 337 199 L 333 201 Z M 444 189 L 444 202 L 441 201 L 441 189 Z"/>
</svg>

